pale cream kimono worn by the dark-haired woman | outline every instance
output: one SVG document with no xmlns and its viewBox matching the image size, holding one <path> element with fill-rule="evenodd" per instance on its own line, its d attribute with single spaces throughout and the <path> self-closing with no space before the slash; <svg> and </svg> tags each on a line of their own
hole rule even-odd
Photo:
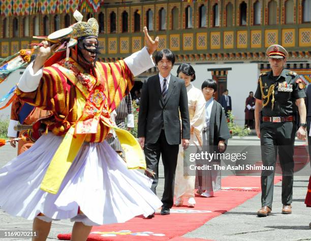
<svg viewBox="0 0 311 241">
<path fill-rule="evenodd" d="M 202 148 L 202 130 L 205 123 L 205 99 L 200 89 L 192 84 L 187 87 L 188 108 L 190 117 L 190 146 L 197 146 L 197 150 Z M 184 175 L 183 169 L 183 148 L 179 145 L 177 167 L 175 172 L 175 198 L 194 197 L 195 175 Z M 195 203 L 192 203 L 195 204 Z"/>
</svg>

